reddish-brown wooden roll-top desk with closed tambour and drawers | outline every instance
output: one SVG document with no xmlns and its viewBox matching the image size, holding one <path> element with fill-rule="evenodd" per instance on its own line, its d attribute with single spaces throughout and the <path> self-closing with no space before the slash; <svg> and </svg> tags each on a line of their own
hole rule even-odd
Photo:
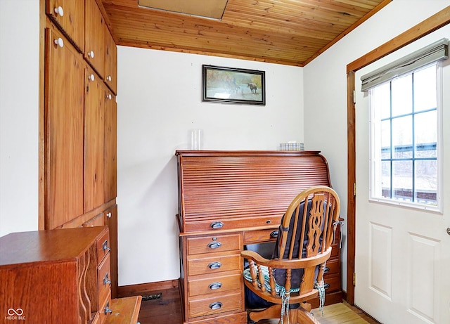
<svg viewBox="0 0 450 324">
<path fill-rule="evenodd" d="M 331 186 L 326 159 L 319 151 L 177 150 L 176 157 L 184 323 L 247 323 L 240 251 L 276 240 L 303 189 Z M 342 302 L 339 226 L 336 233 L 326 304 Z"/>
</svg>

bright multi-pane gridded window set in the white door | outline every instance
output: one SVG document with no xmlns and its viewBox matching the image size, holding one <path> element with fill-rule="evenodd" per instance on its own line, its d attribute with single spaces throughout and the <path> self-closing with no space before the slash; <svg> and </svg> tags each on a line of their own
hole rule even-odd
<svg viewBox="0 0 450 324">
<path fill-rule="evenodd" d="M 371 198 L 439 207 L 439 63 L 369 90 Z"/>
</svg>

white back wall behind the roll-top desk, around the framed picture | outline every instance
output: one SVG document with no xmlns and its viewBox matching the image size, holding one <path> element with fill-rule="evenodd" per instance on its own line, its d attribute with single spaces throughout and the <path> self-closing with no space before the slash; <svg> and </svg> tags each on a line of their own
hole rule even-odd
<svg viewBox="0 0 450 324">
<path fill-rule="evenodd" d="M 266 105 L 201 100 L 202 65 L 266 73 Z M 203 129 L 206 150 L 277 150 L 303 141 L 302 68 L 118 48 L 119 285 L 179 278 L 175 150 Z"/>
</svg>

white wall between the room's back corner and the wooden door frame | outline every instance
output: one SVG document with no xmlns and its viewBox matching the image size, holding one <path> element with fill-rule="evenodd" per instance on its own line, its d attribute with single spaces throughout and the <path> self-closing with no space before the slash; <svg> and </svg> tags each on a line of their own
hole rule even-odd
<svg viewBox="0 0 450 324">
<path fill-rule="evenodd" d="M 321 149 L 330 162 L 342 216 L 347 213 L 347 65 L 449 5 L 449 0 L 394 0 L 304 67 L 305 148 Z M 345 238 L 343 248 L 345 266 Z"/>
</svg>

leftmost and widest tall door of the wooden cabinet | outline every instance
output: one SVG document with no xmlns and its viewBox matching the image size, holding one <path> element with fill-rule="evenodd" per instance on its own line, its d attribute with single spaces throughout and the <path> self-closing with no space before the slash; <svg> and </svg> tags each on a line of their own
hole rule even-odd
<svg viewBox="0 0 450 324">
<path fill-rule="evenodd" d="M 45 228 L 83 214 L 85 63 L 55 30 L 46 29 Z"/>
</svg>

